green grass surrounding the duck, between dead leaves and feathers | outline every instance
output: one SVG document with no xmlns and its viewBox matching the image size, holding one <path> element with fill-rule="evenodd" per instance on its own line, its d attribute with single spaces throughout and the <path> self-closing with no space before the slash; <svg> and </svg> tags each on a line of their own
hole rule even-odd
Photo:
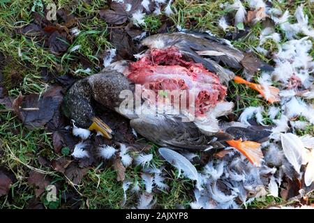
<svg viewBox="0 0 314 223">
<path fill-rule="evenodd" d="M 106 8 L 105 1 L 93 0 L 90 4 L 84 1 L 55 0 L 55 1 L 35 1 L 33 0 L 5 0 L 0 3 L 0 52 L 6 56 L 6 62 L 3 68 L 3 75 L 6 75 L 6 87 L 11 96 L 15 97 L 19 92 L 42 93 L 47 88 L 47 83 L 43 82 L 40 72 L 45 68 L 56 75 L 86 75 L 84 73 L 75 74 L 75 70 L 82 69 L 83 64 L 80 61 L 82 55 L 89 61 L 91 73 L 100 71 L 100 54 L 110 47 L 107 40 L 109 33 L 108 25 L 98 16 L 98 10 Z M 44 6 L 47 3 L 57 3 L 57 8 L 67 10 L 71 15 L 77 18 L 75 25 L 80 27 L 80 34 L 76 36 L 68 47 L 68 52 L 63 55 L 53 54 L 49 49 L 43 47 L 43 42 L 36 38 L 27 38 L 17 33 L 17 29 L 33 22 L 31 8 L 35 6 L 38 13 L 41 12 L 40 3 Z M 202 31 L 211 31 L 217 36 L 225 36 L 225 31 L 218 28 L 218 20 L 227 10 L 220 8 L 221 3 L 232 2 L 225 0 L 218 1 L 188 1 L 177 0 L 174 3 L 174 14 L 170 20 L 174 24 L 170 31 L 175 31 L 176 26 L 180 25 L 185 29 L 200 29 Z M 304 3 L 304 10 L 308 15 L 308 20 L 313 26 L 314 6 L 310 0 L 294 1 L 287 3 L 283 1 L 272 1 L 276 8 L 282 11 L 290 10 L 294 13 L 296 5 Z M 149 15 L 145 17 L 146 25 L 142 26 L 149 33 L 156 33 L 163 25 L 163 15 Z M 234 31 L 234 29 L 230 29 Z M 251 49 L 260 59 L 272 63 L 271 59 L 259 54 L 256 47 L 259 43 L 258 36 L 262 31 L 262 24 L 259 22 L 253 25 L 250 32 L 240 40 L 234 40 L 232 43 L 239 49 Z M 276 31 L 282 33 L 276 26 Z M 285 39 L 283 39 L 285 41 Z M 75 45 L 80 45 L 76 52 L 69 50 Z M 263 47 L 271 52 L 276 52 L 276 44 L 267 40 Z M 20 49 L 20 52 L 19 52 Z M 20 55 L 19 55 L 20 54 Z M 311 52 L 314 56 L 314 49 Z M 237 71 L 241 75 L 241 70 Z M 13 79 L 16 83 L 11 82 Z M 256 77 L 255 77 L 256 78 Z M 264 106 L 267 102 L 257 98 L 257 93 L 248 89 L 244 85 L 230 83 L 228 89 L 228 100 L 236 103 L 234 115 L 237 117 L 248 106 Z M 4 107 L 0 107 L 4 109 Z M 265 117 L 266 123 L 271 120 Z M 29 203 L 35 199 L 35 193 L 32 187 L 27 184 L 27 173 L 31 169 L 46 171 L 47 175 L 59 185 L 59 199 L 57 202 L 48 202 L 45 199 L 45 193 L 38 199 L 45 208 L 122 208 L 123 190 L 121 183 L 116 180 L 116 172 L 105 164 L 97 169 L 89 169 L 87 176 L 84 177 L 79 186 L 73 187 L 63 174 L 53 171 L 51 167 L 46 167 L 38 162 L 38 156 L 43 156 L 47 160 L 52 160 L 58 155 L 54 153 L 52 146 L 52 134 L 43 129 L 27 130 L 12 112 L 0 112 L 0 167 L 6 167 L 15 175 L 15 183 L 11 185 L 10 193 L 7 196 L 0 197 L 0 208 L 26 208 Z M 314 134 L 314 126 L 308 125 L 306 130 L 298 134 Z M 153 163 L 160 167 L 163 161 L 156 154 L 156 146 L 151 149 L 154 154 Z M 140 186 L 143 187 L 140 180 L 140 167 L 130 167 L 126 171 L 126 179 L 137 179 Z M 177 178 L 178 173 L 171 167 L 166 177 L 166 182 L 170 186 L 169 191 L 158 190 L 154 194 L 158 208 L 178 208 L 179 206 L 188 207 L 188 203 L 193 200 L 193 182 L 185 178 Z M 78 192 L 82 194 L 77 196 Z M 61 197 L 63 193 L 74 193 L 76 196 L 68 203 L 68 199 Z M 136 205 L 137 196 L 130 190 L 127 192 L 128 200 L 124 207 L 131 208 Z M 253 201 L 249 208 L 264 208 L 270 204 L 281 203 L 281 200 L 273 197 L 266 197 L 264 200 Z"/>
</svg>

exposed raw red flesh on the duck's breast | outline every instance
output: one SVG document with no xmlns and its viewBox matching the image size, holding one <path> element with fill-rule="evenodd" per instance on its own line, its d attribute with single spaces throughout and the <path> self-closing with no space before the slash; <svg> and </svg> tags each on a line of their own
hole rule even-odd
<svg viewBox="0 0 314 223">
<path fill-rule="evenodd" d="M 139 61 L 131 63 L 128 79 L 156 93 L 158 90 L 194 90 L 196 115 L 207 112 L 226 94 L 226 87 L 216 74 L 201 63 L 184 60 L 175 47 L 152 49 Z"/>
</svg>

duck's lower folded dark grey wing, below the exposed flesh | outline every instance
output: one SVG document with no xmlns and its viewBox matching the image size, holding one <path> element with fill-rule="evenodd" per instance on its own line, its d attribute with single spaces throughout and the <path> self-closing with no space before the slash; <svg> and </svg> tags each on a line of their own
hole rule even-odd
<svg viewBox="0 0 314 223">
<path fill-rule="evenodd" d="M 130 121 L 136 132 L 160 146 L 174 149 L 205 150 L 224 147 L 220 141 L 230 140 L 230 134 L 218 132 L 207 136 L 193 122 L 182 122 L 179 115 L 145 114 Z"/>
</svg>

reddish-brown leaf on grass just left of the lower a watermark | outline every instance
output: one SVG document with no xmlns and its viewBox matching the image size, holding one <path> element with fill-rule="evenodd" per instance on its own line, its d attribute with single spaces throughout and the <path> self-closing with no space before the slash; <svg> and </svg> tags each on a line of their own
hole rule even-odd
<svg viewBox="0 0 314 223">
<path fill-rule="evenodd" d="M 45 174 L 31 171 L 29 173 L 29 179 L 27 183 L 29 183 L 29 185 L 35 186 L 36 197 L 39 197 L 40 194 L 43 194 L 43 192 L 45 192 L 45 188 L 50 185 L 50 181 L 51 179 L 45 176 Z"/>
</svg>

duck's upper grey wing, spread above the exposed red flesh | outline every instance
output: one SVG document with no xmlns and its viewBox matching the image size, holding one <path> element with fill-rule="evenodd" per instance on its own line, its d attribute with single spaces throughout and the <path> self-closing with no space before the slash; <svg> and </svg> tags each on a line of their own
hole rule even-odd
<svg viewBox="0 0 314 223">
<path fill-rule="evenodd" d="M 196 63 L 202 63 L 204 67 L 223 79 L 233 79 L 234 73 L 220 66 L 220 62 L 230 68 L 245 68 L 252 73 L 259 68 L 271 70 L 271 66 L 257 59 L 251 54 L 241 52 L 234 48 L 227 40 L 211 36 L 208 33 L 160 33 L 142 40 L 142 45 L 150 49 L 165 47 L 177 47 L 182 54 L 190 57 Z"/>
</svg>

